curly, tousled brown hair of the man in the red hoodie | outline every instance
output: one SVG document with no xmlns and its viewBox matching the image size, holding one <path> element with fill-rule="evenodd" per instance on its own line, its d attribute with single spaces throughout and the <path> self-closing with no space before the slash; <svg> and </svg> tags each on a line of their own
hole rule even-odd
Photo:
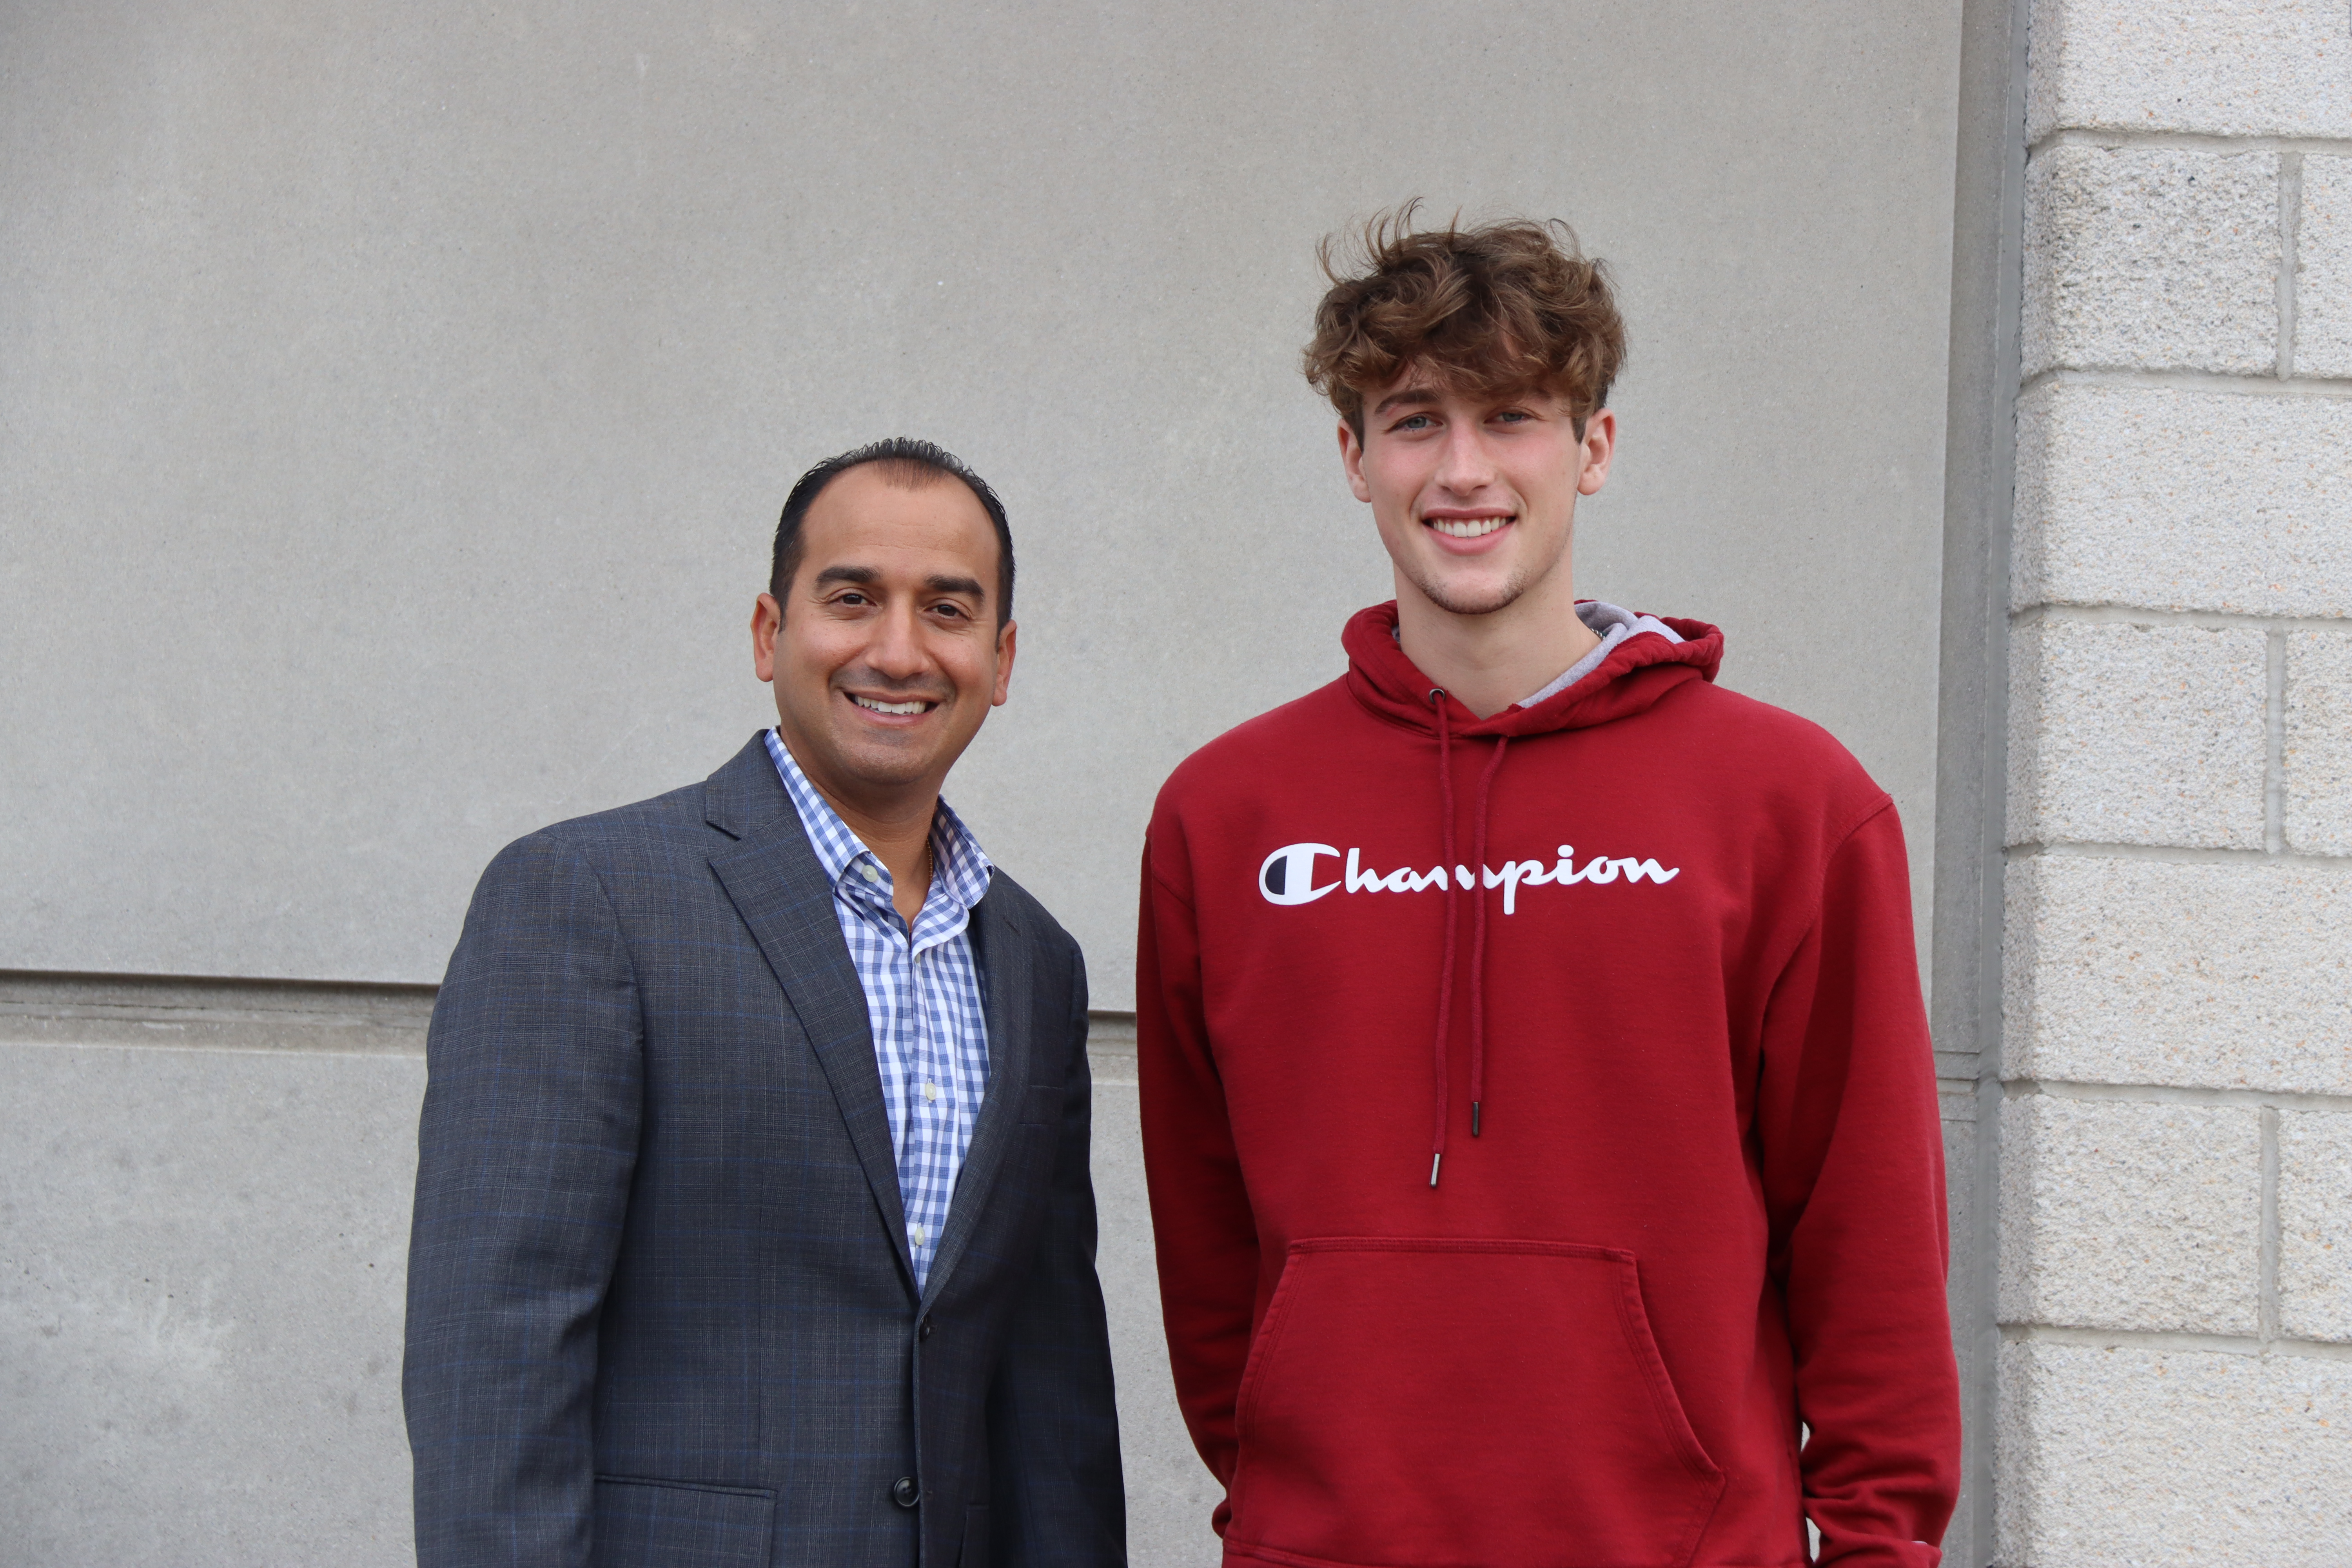
<svg viewBox="0 0 2352 1568">
<path fill-rule="evenodd" d="M 1541 388 L 1569 402 L 1576 433 L 1625 364 L 1609 270 L 1552 223 L 1414 228 L 1421 202 L 1369 219 L 1350 270 L 1317 247 L 1331 289 L 1315 306 L 1305 376 L 1364 437 L 1364 395 L 1409 364 L 1472 395 Z"/>
</svg>

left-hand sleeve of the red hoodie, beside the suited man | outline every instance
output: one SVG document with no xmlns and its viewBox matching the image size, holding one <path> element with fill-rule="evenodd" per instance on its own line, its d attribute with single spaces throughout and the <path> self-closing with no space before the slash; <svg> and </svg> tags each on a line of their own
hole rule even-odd
<svg viewBox="0 0 2352 1568">
<path fill-rule="evenodd" d="M 1192 905 L 1143 851 L 1136 936 L 1136 1067 L 1143 1105 L 1143 1171 L 1160 1255 L 1160 1307 L 1169 1335 L 1176 1403 L 1192 1446 L 1218 1481 L 1232 1483 L 1232 1406 L 1249 1359 L 1258 1288 L 1258 1227 L 1225 1121 L 1225 1086 L 1202 1013 L 1200 938 Z M 1223 1535 L 1230 1505 L 1218 1505 Z"/>
</svg>

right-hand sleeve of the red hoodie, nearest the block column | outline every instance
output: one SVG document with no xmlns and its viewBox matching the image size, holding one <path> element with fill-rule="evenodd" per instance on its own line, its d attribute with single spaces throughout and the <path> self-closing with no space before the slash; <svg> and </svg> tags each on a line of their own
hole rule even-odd
<svg viewBox="0 0 2352 1568">
<path fill-rule="evenodd" d="M 1943 1135 L 1893 804 L 1830 853 L 1757 1098 L 1820 1561 L 1933 1568 L 1959 1493 Z"/>
</svg>

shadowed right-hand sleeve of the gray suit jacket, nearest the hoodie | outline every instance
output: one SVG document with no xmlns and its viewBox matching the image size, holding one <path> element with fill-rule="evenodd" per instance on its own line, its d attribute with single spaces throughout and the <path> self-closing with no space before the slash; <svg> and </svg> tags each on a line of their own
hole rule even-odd
<svg viewBox="0 0 2352 1568">
<path fill-rule="evenodd" d="M 988 1394 L 995 1561 L 1011 1568 L 1127 1561 L 1110 1328 L 1094 1276 L 1087 964 L 1075 943 L 1068 1009 L 1056 1041 L 1063 1098 L 1044 1234 Z"/>
</svg>

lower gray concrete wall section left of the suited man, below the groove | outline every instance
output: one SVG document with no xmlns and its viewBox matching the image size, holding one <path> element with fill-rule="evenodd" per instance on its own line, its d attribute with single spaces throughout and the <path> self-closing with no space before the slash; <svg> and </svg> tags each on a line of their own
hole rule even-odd
<svg viewBox="0 0 2352 1568">
<path fill-rule="evenodd" d="M 400 1316 L 423 1058 L 9 1034 L 0 1561 L 414 1561 Z"/>
</svg>

